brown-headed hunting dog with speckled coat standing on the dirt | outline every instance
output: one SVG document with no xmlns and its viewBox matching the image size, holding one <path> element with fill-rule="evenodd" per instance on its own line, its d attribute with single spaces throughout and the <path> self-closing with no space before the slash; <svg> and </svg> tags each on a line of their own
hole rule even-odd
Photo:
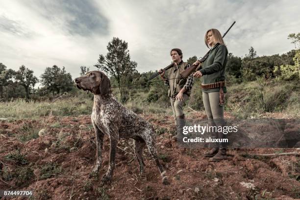
<svg viewBox="0 0 300 200">
<path fill-rule="evenodd" d="M 110 181 L 115 168 L 116 148 L 119 138 L 133 138 L 136 158 L 140 164 L 140 174 L 144 172 L 143 149 L 148 150 L 159 168 L 163 183 L 168 184 L 167 176 L 159 163 L 154 143 L 153 127 L 131 110 L 126 109 L 111 94 L 109 78 L 100 71 L 91 71 L 75 78 L 79 89 L 91 91 L 94 94 L 92 124 L 96 132 L 97 162 L 93 174 L 98 174 L 102 164 L 101 150 L 103 136 L 107 134 L 110 141 L 109 167 L 102 181 Z"/>
</svg>

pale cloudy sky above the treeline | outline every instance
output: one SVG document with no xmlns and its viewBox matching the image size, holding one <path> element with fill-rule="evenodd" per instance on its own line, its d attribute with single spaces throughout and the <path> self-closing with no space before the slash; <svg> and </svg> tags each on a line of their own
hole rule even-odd
<svg viewBox="0 0 300 200">
<path fill-rule="evenodd" d="M 25 65 L 40 76 L 46 67 L 65 66 L 73 77 L 91 69 L 113 37 L 128 42 L 139 72 L 207 52 L 204 33 L 217 28 L 229 52 L 244 56 L 294 49 L 287 36 L 300 32 L 299 0 L 1 0 L 0 63 Z"/>
</svg>

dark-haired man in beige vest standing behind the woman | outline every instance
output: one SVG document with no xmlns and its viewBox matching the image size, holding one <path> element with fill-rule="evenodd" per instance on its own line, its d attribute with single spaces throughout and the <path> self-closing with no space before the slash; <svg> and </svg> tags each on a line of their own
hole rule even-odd
<svg viewBox="0 0 300 200">
<path fill-rule="evenodd" d="M 179 73 L 190 67 L 190 64 L 182 61 L 182 51 L 180 49 L 172 49 L 171 57 L 174 66 L 169 71 L 169 78 L 165 77 L 165 71 L 160 70 L 160 77 L 165 81 L 165 85 L 169 85 L 168 96 L 170 97 L 173 116 L 175 118 L 176 135 L 172 138 L 177 141 L 182 139 L 183 126 L 185 125 L 183 104 L 189 98 L 191 89 L 194 84 L 194 76 L 180 78 Z"/>
</svg>

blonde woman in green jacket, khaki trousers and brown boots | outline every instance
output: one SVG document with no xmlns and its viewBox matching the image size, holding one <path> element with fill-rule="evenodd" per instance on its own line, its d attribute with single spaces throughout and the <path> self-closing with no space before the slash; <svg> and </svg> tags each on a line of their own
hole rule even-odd
<svg viewBox="0 0 300 200">
<path fill-rule="evenodd" d="M 224 93 L 225 88 L 225 66 L 227 63 L 227 48 L 219 30 L 209 29 L 204 37 L 205 45 L 210 48 L 207 59 L 200 63 L 196 61 L 194 64 L 201 64 L 201 69 L 194 76 L 200 78 L 203 76 L 202 99 L 205 112 L 210 126 L 225 126 L 224 120 Z M 211 132 L 211 138 L 225 139 L 226 135 L 222 131 Z M 227 144 L 213 143 L 212 149 L 204 152 L 204 156 L 211 157 L 210 161 L 221 161 L 227 159 L 226 155 Z"/>
</svg>

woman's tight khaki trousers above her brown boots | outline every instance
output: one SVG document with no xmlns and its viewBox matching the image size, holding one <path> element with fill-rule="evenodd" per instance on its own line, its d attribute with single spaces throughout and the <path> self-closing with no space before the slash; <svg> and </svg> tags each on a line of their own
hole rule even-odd
<svg viewBox="0 0 300 200">
<path fill-rule="evenodd" d="M 224 106 L 219 105 L 219 92 L 202 92 L 202 99 L 208 118 L 208 124 L 210 126 L 225 126 L 226 122 L 224 120 Z M 226 135 L 223 134 L 223 132 L 212 132 L 211 137 L 222 139 L 226 138 Z M 220 149 L 225 149 L 226 146 L 226 143 L 213 144 L 213 147 Z"/>
</svg>

